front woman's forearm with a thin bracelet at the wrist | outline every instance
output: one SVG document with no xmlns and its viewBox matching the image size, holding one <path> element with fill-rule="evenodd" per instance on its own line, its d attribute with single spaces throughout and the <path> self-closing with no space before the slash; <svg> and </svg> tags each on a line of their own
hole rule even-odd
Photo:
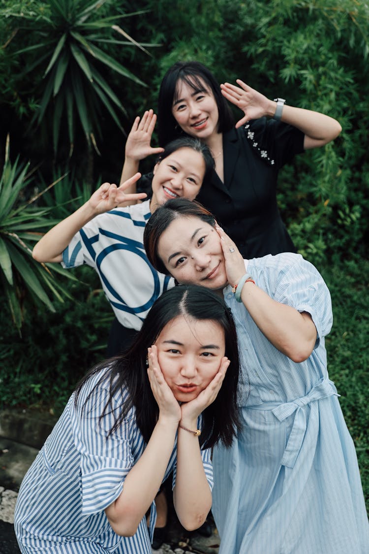
<svg viewBox="0 0 369 554">
<path fill-rule="evenodd" d="M 196 420 L 181 423 L 188 429 L 196 429 Z M 189 531 L 204 523 L 211 508 L 211 491 L 202 465 L 199 439 L 180 427 L 173 501 L 181 525 Z"/>
</svg>

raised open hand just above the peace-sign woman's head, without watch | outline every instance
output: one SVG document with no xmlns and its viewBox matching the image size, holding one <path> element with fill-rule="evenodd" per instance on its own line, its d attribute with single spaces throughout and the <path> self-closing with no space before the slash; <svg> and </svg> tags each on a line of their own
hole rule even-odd
<svg viewBox="0 0 369 554">
<path fill-rule="evenodd" d="M 126 158 L 138 162 L 151 154 L 163 152 L 164 148 L 150 146 L 156 121 L 157 116 L 153 110 L 145 111 L 142 119 L 139 116 L 136 117 L 127 137 Z"/>
</svg>

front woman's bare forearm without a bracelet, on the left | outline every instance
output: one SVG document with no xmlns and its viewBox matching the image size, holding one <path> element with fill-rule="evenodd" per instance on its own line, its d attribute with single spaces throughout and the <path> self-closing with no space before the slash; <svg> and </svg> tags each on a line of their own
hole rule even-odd
<svg viewBox="0 0 369 554">
<path fill-rule="evenodd" d="M 173 451 L 177 425 L 159 419 L 141 458 L 124 480 L 122 493 L 106 508 L 108 520 L 118 535 L 134 535 L 157 495 Z"/>
</svg>

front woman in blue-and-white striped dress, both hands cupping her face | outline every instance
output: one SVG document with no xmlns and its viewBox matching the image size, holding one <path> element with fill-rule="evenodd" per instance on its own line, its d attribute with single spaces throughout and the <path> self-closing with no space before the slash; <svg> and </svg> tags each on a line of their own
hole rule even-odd
<svg viewBox="0 0 369 554">
<path fill-rule="evenodd" d="M 196 286 L 160 296 L 134 345 L 77 386 L 25 475 L 14 514 L 22 553 L 148 554 L 154 497 L 171 471 L 179 520 L 199 527 L 210 449 L 230 447 L 240 428 L 238 367 L 219 297 Z"/>
</svg>

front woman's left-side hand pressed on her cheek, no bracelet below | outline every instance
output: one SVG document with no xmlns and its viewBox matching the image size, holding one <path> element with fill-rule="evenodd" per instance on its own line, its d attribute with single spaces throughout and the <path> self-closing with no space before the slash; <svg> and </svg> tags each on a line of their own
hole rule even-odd
<svg viewBox="0 0 369 554">
<path fill-rule="evenodd" d="M 167 382 L 164 379 L 162 370 L 158 361 L 158 347 L 153 345 L 148 348 L 149 367 L 147 375 L 149 377 L 151 390 L 159 406 L 159 418 L 167 418 L 179 422 L 181 418 L 181 408 L 178 401 L 174 398 Z"/>
</svg>

